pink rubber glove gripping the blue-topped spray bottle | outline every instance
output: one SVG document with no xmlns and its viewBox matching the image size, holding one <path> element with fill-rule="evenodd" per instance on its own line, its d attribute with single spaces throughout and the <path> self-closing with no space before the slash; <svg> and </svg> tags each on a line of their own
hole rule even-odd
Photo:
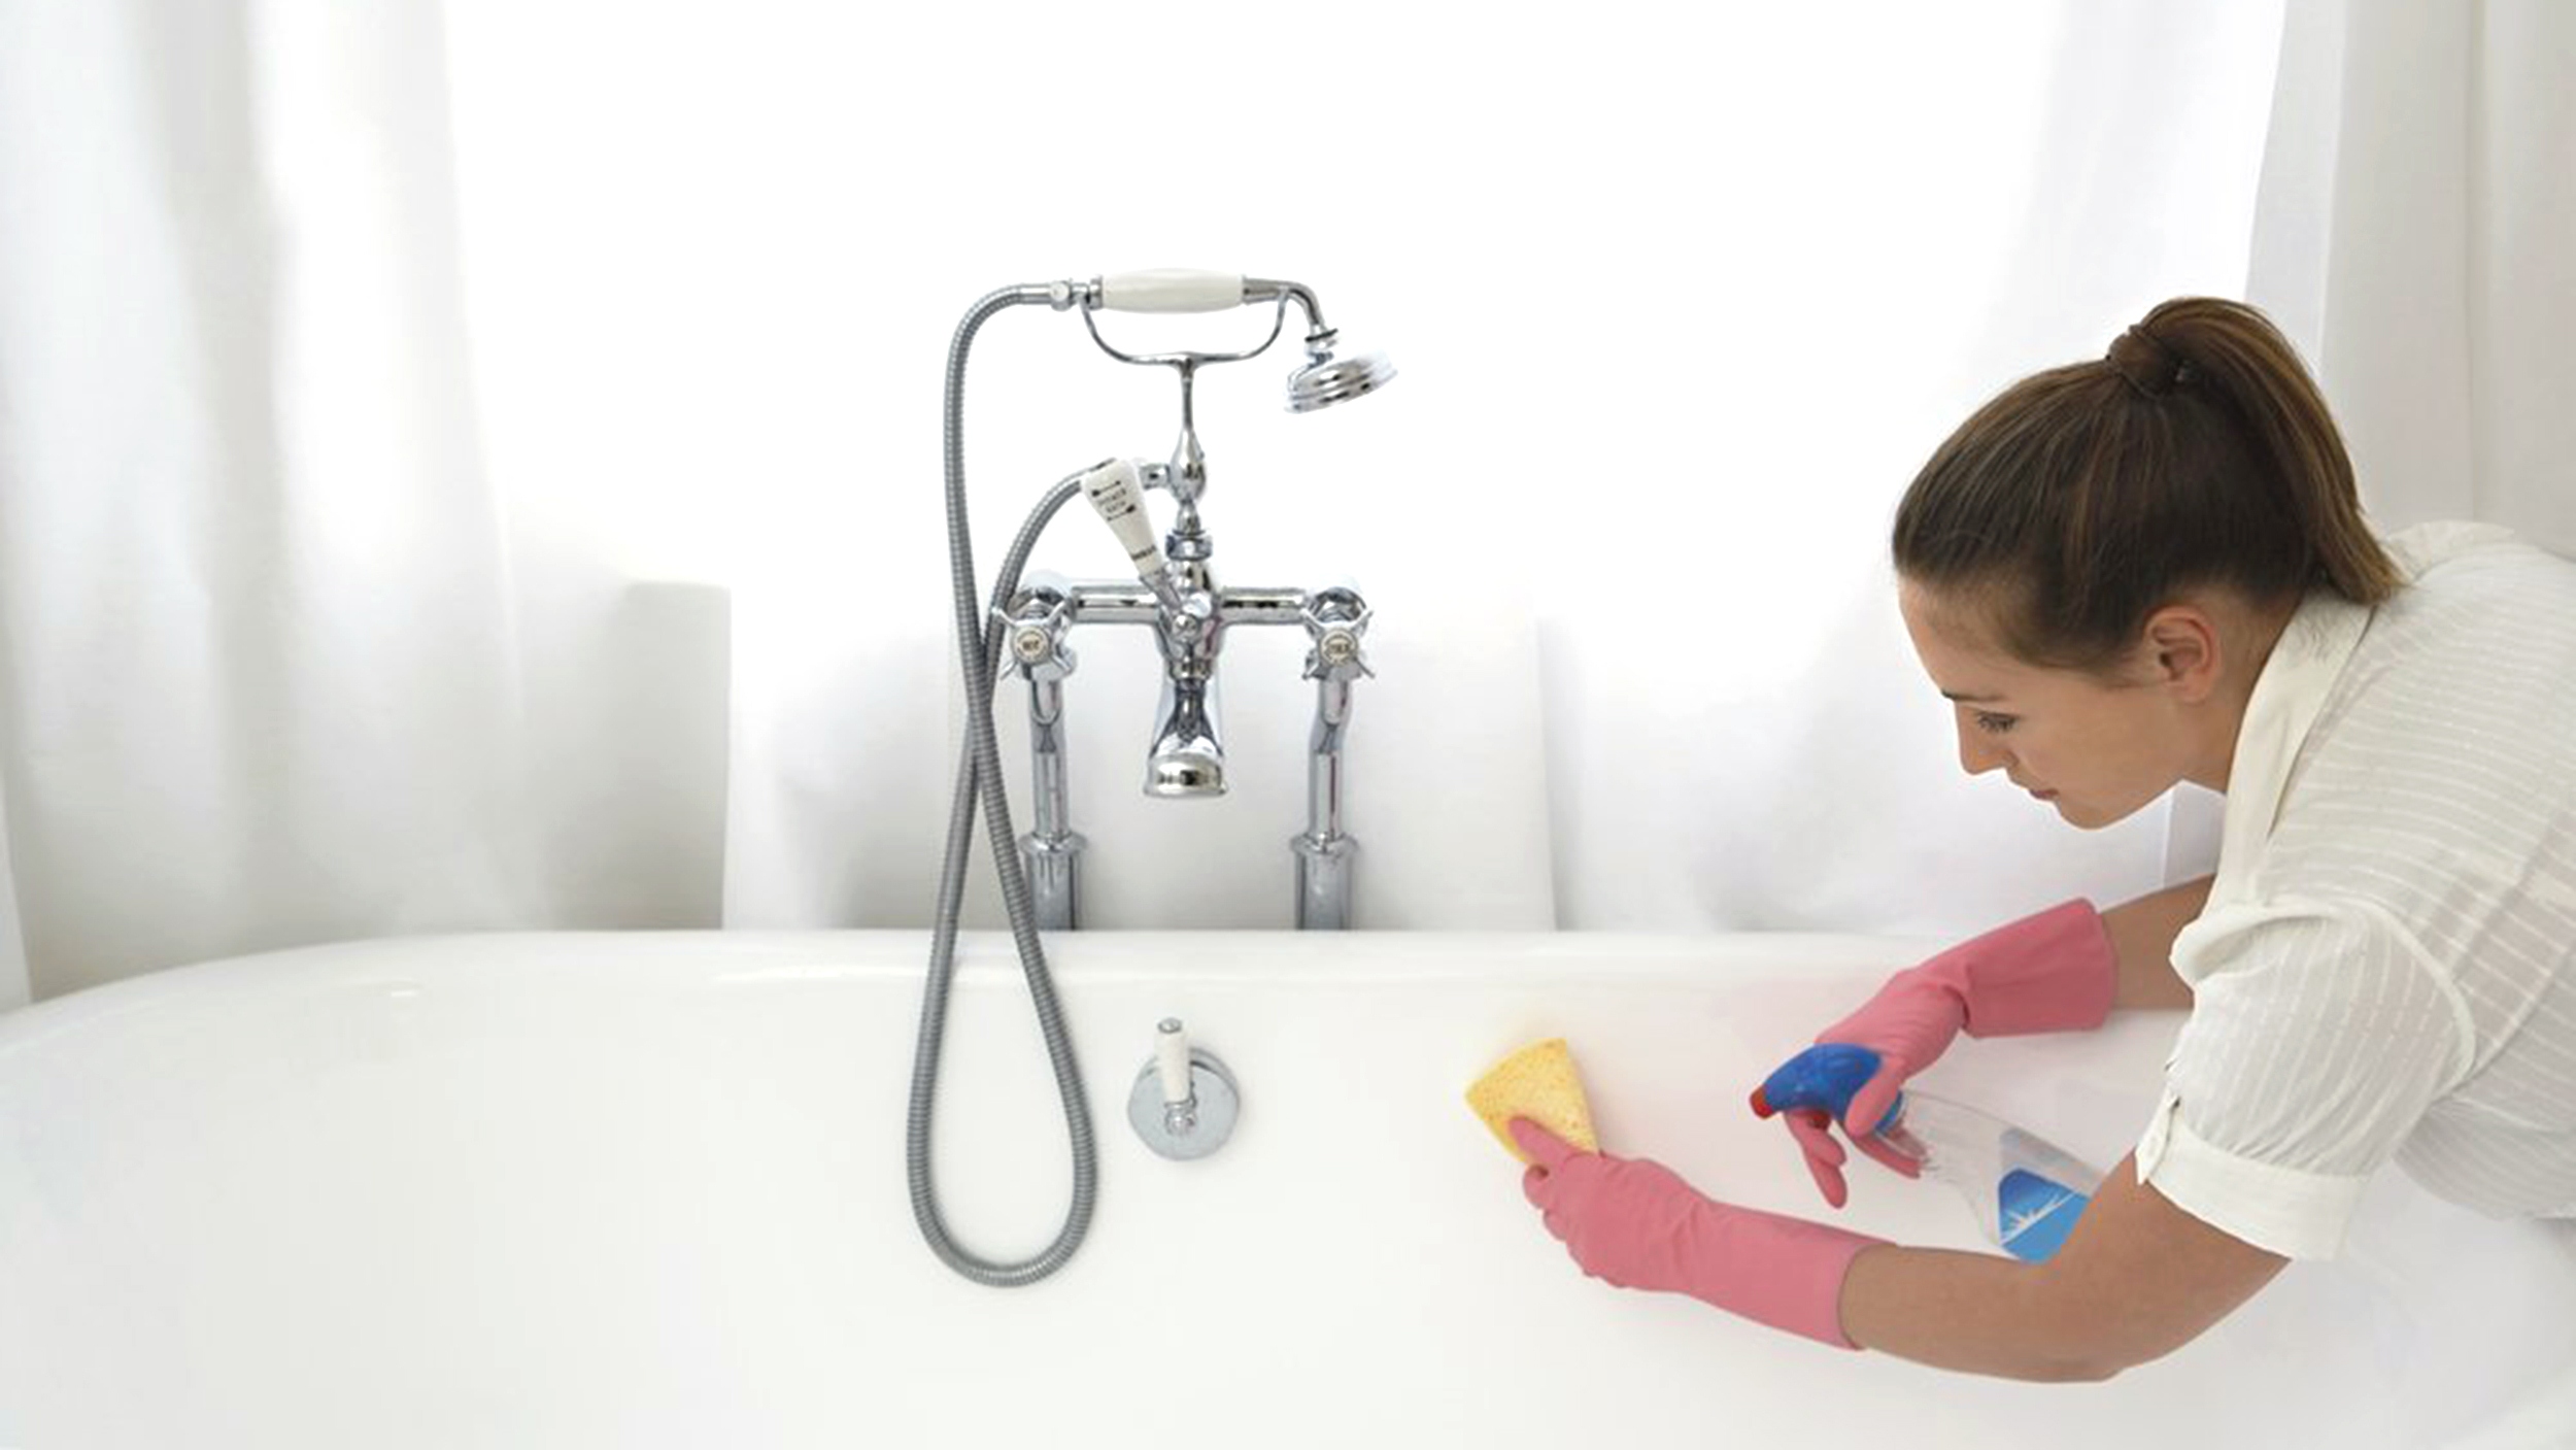
<svg viewBox="0 0 2576 1450">
<path fill-rule="evenodd" d="M 1857 1043 L 1880 1059 L 1870 1082 L 1852 1095 L 1842 1131 L 1862 1154 L 1917 1177 L 1922 1167 L 1870 1131 L 1909 1077 L 1932 1066 L 1963 1030 L 1971 1038 L 2014 1038 L 2099 1028 L 2117 989 L 2120 961 L 2110 932 L 2084 899 L 2002 925 L 1899 971 L 1860 1012 L 1816 1033 L 1819 1043 Z M 1798 1110 L 1780 1120 L 1806 1154 L 1816 1190 L 1842 1208 L 1850 1187 L 1842 1182 L 1842 1144 L 1826 1131 L 1832 1118 Z"/>
</svg>

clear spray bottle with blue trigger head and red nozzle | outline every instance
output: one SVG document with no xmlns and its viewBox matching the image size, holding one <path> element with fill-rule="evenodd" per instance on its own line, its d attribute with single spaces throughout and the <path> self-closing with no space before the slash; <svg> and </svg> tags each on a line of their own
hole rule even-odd
<svg viewBox="0 0 2576 1450">
<path fill-rule="evenodd" d="M 1821 1107 L 1839 1123 L 1875 1071 L 1878 1053 L 1870 1048 L 1819 1043 L 1754 1089 L 1754 1113 L 1770 1118 Z M 2035 1133 L 1929 1092 L 1899 1092 L 1873 1133 L 1919 1162 L 1927 1177 L 1955 1187 L 1986 1239 L 2032 1265 L 2066 1244 L 2105 1177 Z"/>
</svg>

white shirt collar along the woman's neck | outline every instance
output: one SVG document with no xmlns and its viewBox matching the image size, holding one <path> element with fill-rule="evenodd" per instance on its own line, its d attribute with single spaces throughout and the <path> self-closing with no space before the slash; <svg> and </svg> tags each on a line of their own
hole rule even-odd
<svg viewBox="0 0 2576 1450">
<path fill-rule="evenodd" d="M 2254 677 L 2254 695 L 2246 698 L 2246 719 L 2236 726 L 2236 757 L 2228 762 L 2228 809 L 2218 837 L 2218 881 L 2210 901 L 2233 901 L 2246 894 L 2262 845 L 2280 816 L 2282 791 L 2290 786 L 2290 762 L 2308 742 L 2316 713 L 2326 706 L 2326 693 L 2342 677 L 2352 646 L 2370 626 L 2370 605 L 2357 605 L 2334 590 L 2316 590 L 2300 600 L 2290 616 L 2262 675 Z"/>
</svg>

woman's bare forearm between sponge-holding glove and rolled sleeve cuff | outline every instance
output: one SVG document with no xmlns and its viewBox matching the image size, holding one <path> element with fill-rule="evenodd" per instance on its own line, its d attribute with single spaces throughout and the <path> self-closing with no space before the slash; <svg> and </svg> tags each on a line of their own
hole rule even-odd
<svg viewBox="0 0 2576 1450">
<path fill-rule="evenodd" d="M 1842 1332 L 1942 1370 L 2107 1380 L 2190 1344 L 2287 1262 L 2174 1208 L 2123 1159 L 2045 1265 L 1862 1249 L 1842 1280 Z"/>
</svg>

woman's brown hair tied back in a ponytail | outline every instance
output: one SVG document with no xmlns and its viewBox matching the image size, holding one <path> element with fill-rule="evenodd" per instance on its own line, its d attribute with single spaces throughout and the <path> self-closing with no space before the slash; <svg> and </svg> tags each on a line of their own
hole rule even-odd
<svg viewBox="0 0 2576 1450">
<path fill-rule="evenodd" d="M 2375 605 L 2401 585 L 2290 340 L 2215 296 L 1976 410 L 1914 476 L 1893 546 L 1904 577 L 1991 605 L 2017 657 L 2076 670 L 2120 659 L 2184 587 Z"/>
</svg>

